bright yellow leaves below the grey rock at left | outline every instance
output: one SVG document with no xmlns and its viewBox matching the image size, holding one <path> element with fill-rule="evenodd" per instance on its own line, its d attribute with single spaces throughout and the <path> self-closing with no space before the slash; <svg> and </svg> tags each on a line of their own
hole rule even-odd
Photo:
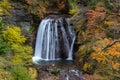
<svg viewBox="0 0 120 80">
<path fill-rule="evenodd" d="M 26 41 L 26 38 L 21 35 L 20 28 L 16 26 L 8 26 L 6 31 L 3 31 L 3 38 L 9 46 L 12 44 L 23 44 Z"/>
</svg>

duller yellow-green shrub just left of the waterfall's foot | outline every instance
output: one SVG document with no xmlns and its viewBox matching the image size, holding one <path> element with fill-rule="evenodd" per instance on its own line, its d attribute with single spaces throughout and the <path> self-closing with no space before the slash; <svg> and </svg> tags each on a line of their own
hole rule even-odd
<svg viewBox="0 0 120 80">
<path fill-rule="evenodd" d="M 28 66 L 32 64 L 32 47 L 14 44 L 12 45 L 12 51 L 14 53 L 11 59 L 13 65 Z"/>
</svg>

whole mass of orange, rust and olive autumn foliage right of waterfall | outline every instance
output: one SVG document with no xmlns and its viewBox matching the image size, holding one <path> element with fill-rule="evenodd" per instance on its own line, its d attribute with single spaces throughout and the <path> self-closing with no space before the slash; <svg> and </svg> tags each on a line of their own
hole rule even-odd
<svg viewBox="0 0 120 80">
<path fill-rule="evenodd" d="M 76 56 L 85 72 L 99 74 L 103 77 L 100 80 L 119 80 L 119 19 L 116 12 L 109 13 L 106 4 L 102 3 L 100 1 L 98 6 L 96 2 L 77 23 L 77 44 L 80 46 Z"/>
</svg>

